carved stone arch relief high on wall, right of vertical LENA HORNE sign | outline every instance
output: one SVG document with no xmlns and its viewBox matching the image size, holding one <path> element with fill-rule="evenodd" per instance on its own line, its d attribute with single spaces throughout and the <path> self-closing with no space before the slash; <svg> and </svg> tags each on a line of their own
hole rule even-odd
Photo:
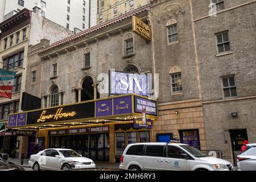
<svg viewBox="0 0 256 182">
<path fill-rule="evenodd" d="M 164 23 L 168 19 L 175 19 L 179 15 L 183 15 L 185 11 L 183 11 L 180 5 L 170 5 L 167 6 L 162 14 L 160 14 L 160 18 L 158 19 L 158 23 Z"/>
</svg>

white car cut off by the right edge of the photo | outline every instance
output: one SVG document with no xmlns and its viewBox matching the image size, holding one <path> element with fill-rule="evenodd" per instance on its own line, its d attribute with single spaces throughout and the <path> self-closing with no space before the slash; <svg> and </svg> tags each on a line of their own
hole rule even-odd
<svg viewBox="0 0 256 182">
<path fill-rule="evenodd" d="M 246 144 L 247 148 L 237 156 L 238 170 L 256 171 L 256 143 Z"/>
</svg>

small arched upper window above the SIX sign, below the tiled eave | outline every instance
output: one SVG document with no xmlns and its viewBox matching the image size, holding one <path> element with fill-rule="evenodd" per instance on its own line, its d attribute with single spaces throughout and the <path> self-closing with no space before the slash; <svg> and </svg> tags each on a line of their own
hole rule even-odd
<svg viewBox="0 0 256 182">
<path fill-rule="evenodd" d="M 134 35 L 132 33 L 123 36 L 123 56 L 133 56 L 135 54 L 134 42 Z"/>
</svg>

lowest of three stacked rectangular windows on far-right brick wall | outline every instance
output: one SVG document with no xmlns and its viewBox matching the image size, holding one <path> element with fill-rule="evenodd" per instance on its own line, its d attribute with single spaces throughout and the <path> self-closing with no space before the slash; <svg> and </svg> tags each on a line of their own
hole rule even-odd
<svg viewBox="0 0 256 182">
<path fill-rule="evenodd" d="M 222 78 L 224 97 L 236 97 L 237 87 L 234 76 Z"/>
</svg>

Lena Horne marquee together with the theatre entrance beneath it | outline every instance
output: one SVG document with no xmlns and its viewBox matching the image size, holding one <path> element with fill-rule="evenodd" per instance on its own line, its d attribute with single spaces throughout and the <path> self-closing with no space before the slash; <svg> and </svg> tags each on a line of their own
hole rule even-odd
<svg viewBox="0 0 256 182">
<path fill-rule="evenodd" d="M 146 108 L 146 125 L 142 122 Z M 152 141 L 157 102 L 125 94 L 9 115 L 9 129 L 37 131 L 39 148 L 72 148 L 93 160 L 118 161 L 127 144 Z"/>
</svg>

